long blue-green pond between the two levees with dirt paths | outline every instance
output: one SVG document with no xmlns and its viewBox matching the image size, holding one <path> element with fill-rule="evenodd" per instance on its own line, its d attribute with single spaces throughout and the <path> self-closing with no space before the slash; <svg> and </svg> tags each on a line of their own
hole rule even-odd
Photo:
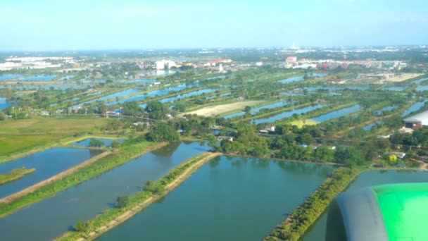
<svg viewBox="0 0 428 241">
<path fill-rule="evenodd" d="M 92 180 L 58 192 L 55 197 L 0 218 L 1 240 L 51 240 L 79 220 L 94 218 L 114 206 L 115 199 L 158 180 L 183 161 L 206 152 L 197 142 L 170 144 L 144 154 Z"/>
</svg>

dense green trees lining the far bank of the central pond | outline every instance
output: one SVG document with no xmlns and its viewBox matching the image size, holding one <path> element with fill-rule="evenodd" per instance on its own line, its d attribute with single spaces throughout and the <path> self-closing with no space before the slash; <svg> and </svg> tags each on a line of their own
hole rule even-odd
<svg viewBox="0 0 428 241">
<path fill-rule="evenodd" d="M 306 125 L 297 128 L 295 125 L 277 126 L 275 135 L 263 137 L 256 134 L 254 125 L 238 123 L 235 132 L 228 135 L 233 141 L 215 142 L 212 138 L 210 146 L 217 152 L 242 154 L 251 156 L 275 157 L 303 161 L 333 161 L 346 166 L 359 166 L 374 161 L 382 156 L 387 159 L 390 148 L 389 140 L 370 137 L 364 141 L 351 140 L 336 142 L 336 149 L 325 140 L 326 130 L 322 125 Z"/>
</svg>

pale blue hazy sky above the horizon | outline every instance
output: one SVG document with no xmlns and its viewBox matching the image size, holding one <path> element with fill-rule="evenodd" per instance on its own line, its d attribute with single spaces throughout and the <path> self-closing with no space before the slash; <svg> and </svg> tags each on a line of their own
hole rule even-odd
<svg viewBox="0 0 428 241">
<path fill-rule="evenodd" d="M 428 44 L 427 0 L 1 0 L 0 51 Z"/>
</svg>

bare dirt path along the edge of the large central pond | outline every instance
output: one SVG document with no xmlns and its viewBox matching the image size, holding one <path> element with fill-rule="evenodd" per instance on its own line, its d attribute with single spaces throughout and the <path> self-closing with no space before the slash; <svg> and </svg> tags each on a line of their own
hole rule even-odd
<svg viewBox="0 0 428 241">
<path fill-rule="evenodd" d="M 156 196 L 156 197 L 154 197 L 154 196 L 149 197 L 148 199 L 144 200 L 144 202 L 137 204 L 137 206 L 135 206 L 133 209 L 125 211 L 125 213 L 118 216 L 117 218 L 115 218 L 113 221 L 111 221 L 107 225 L 101 226 L 99 228 L 99 230 L 97 230 L 96 232 L 89 233 L 87 238 L 80 237 L 79 239 L 77 239 L 77 241 L 94 240 L 96 237 L 101 236 L 103 233 L 106 233 L 108 230 L 111 230 L 112 228 L 115 228 L 115 226 L 120 225 L 120 223 L 127 221 L 127 219 L 131 218 L 135 214 L 138 214 L 139 211 L 143 210 L 144 208 L 146 208 L 147 206 L 152 204 L 154 201 L 156 201 L 160 197 L 164 197 L 166 194 L 168 194 L 169 192 L 174 190 L 175 187 L 178 187 L 180 184 L 182 184 L 184 182 L 184 180 L 189 178 L 189 176 L 192 173 L 194 173 L 194 171 L 198 170 L 201 166 L 203 166 L 203 164 L 210 161 L 215 156 L 220 156 L 220 155 L 221 155 L 221 153 L 209 153 L 207 156 L 205 156 L 203 159 L 201 159 L 201 161 L 198 161 L 194 165 L 189 166 L 189 168 L 187 168 L 187 170 L 184 171 L 184 173 L 182 173 L 177 178 L 175 178 L 175 180 L 173 180 L 172 183 L 168 184 L 165 187 L 165 192 L 162 195 Z"/>
</svg>

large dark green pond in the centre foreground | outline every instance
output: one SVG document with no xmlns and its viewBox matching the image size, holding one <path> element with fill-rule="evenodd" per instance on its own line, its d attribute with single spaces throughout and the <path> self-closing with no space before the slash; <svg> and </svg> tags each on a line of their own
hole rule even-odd
<svg viewBox="0 0 428 241">
<path fill-rule="evenodd" d="M 261 240 L 332 170 L 219 156 L 99 240 Z"/>
</svg>

